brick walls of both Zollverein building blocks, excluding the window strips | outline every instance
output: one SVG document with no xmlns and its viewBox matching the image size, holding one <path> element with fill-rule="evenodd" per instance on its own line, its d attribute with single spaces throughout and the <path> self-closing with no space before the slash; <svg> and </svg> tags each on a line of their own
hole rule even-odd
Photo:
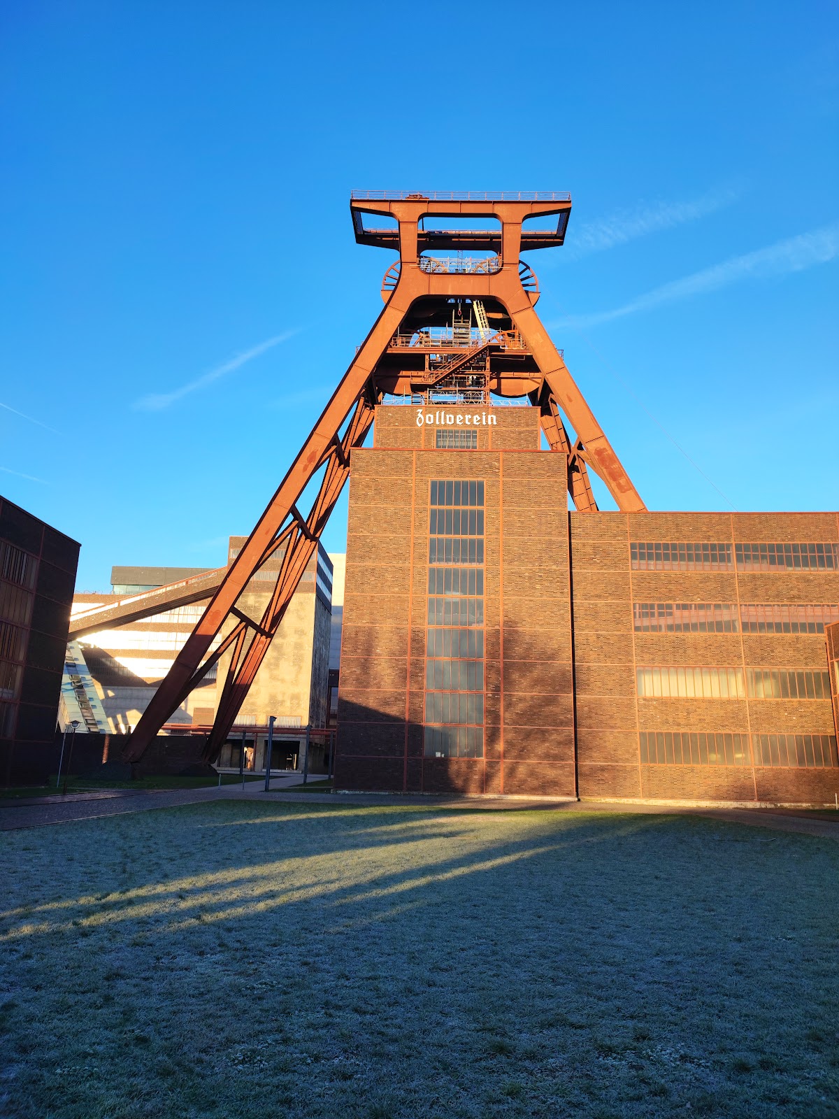
<svg viewBox="0 0 839 1119">
<path fill-rule="evenodd" d="M 459 429 L 477 431 L 474 450 L 436 450 L 437 431 Z M 337 787 L 832 802 L 839 764 L 829 693 L 810 698 L 746 694 L 750 669 L 775 677 L 816 673 L 821 687 L 823 626 L 819 632 L 744 632 L 739 619 L 748 613 L 743 604 L 835 606 L 839 571 L 824 564 L 762 570 L 735 557 L 743 542 L 832 546 L 839 542 L 837 516 L 568 514 L 565 459 L 539 446 L 536 408 L 474 414 L 466 405 L 377 408 L 374 448 L 353 452 L 352 459 Z M 424 752 L 433 479 L 484 485 L 482 758 Z M 631 560 L 637 542 L 713 542 L 727 548 L 729 562 L 642 570 Z M 633 604 L 638 612 L 650 603 L 676 603 L 679 610 L 723 604 L 719 609 L 738 621 L 725 632 L 644 632 Z M 729 670 L 738 693 L 725 698 L 638 694 L 639 669 L 695 666 Z M 727 735 L 746 752 L 734 764 L 642 761 L 640 735 L 691 733 L 710 735 L 720 750 L 723 739 L 714 736 Z M 801 736 L 831 739 L 835 764 L 813 767 L 809 752 L 799 765 L 755 764 L 758 751 L 748 744 L 779 734 L 798 735 L 800 742 Z"/>
</svg>

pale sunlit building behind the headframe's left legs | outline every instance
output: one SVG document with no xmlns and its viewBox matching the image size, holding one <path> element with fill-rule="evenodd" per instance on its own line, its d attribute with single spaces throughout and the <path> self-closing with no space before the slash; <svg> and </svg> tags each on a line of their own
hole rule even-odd
<svg viewBox="0 0 839 1119">
<path fill-rule="evenodd" d="M 228 563 L 236 557 L 244 539 L 229 538 Z M 276 563 L 281 560 L 282 555 L 277 554 Z M 81 718 L 82 728 L 128 735 L 204 614 L 207 587 L 213 585 L 214 579 L 218 581 L 218 572 L 116 566 L 112 568 L 111 579 L 111 593 L 78 593 L 73 599 L 74 639 L 67 652 L 65 708 L 67 715 L 72 712 L 74 717 Z M 275 580 L 275 564 L 255 573 L 242 596 L 241 610 L 262 614 Z M 198 587 L 204 596 L 159 609 L 167 604 L 166 600 L 178 602 L 191 587 Z M 296 765 L 307 726 L 326 727 L 331 595 L 332 563 L 320 549 L 302 574 L 276 640 L 217 759 L 219 768 L 238 768 L 243 741 L 246 768 L 264 768 L 271 715 L 276 720 L 272 759 L 276 769 Z M 125 618 L 129 620 L 124 621 Z M 219 634 L 214 648 L 219 647 L 223 638 L 224 634 Z M 225 668 L 224 657 L 219 658 L 219 665 Z M 84 683 L 86 678 L 92 686 L 79 688 L 76 683 L 73 693 L 72 673 L 76 681 Z M 164 727 L 167 732 L 201 733 L 213 724 L 217 675 L 218 667 L 214 665 L 171 713 Z M 82 709 L 85 703 L 86 711 Z M 103 721 L 104 725 L 98 725 Z M 322 752 L 323 742 L 319 740 L 313 746 L 313 769 L 320 767 Z"/>
</svg>

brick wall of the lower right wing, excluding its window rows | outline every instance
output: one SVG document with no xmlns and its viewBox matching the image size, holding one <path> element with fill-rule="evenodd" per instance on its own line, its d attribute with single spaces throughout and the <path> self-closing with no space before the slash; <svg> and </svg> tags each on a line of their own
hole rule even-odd
<svg viewBox="0 0 839 1119">
<path fill-rule="evenodd" d="M 823 669 L 824 637 L 635 633 L 634 602 L 839 603 L 835 571 L 632 571 L 630 542 L 829 542 L 835 514 L 571 514 L 579 792 L 827 802 L 837 769 L 642 765 L 639 731 L 832 734 L 828 700 L 638 698 L 637 666 Z M 634 768 L 634 774 L 632 772 Z"/>
</svg>

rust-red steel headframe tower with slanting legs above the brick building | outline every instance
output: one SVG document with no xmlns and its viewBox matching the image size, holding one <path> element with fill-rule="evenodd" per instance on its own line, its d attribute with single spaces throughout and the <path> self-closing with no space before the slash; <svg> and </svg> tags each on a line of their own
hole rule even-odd
<svg viewBox="0 0 839 1119">
<path fill-rule="evenodd" d="M 578 511 L 597 508 L 590 469 L 622 511 L 644 509 L 534 310 L 538 282 L 520 256 L 522 250 L 563 244 L 571 195 L 364 191 L 351 195 L 350 211 L 359 244 L 399 254 L 383 281 L 384 310 L 160 684 L 124 750 L 126 761 L 142 756 L 171 714 L 229 651 L 205 747 L 209 761 L 218 756 L 350 474 L 352 451 L 364 443 L 375 405 L 385 396 L 409 395 L 418 404 L 490 404 L 491 393 L 527 396 L 540 410 L 552 450 L 567 457 L 568 492 Z M 446 219 L 468 226 L 468 218 L 478 219 L 471 229 L 445 228 Z M 541 229 L 524 227 L 532 218 L 543 219 L 537 223 Z M 493 228 L 486 228 L 490 224 Z M 439 255 L 446 252 L 456 255 Z M 298 501 L 319 473 L 320 488 L 303 516 Z M 276 584 L 257 621 L 237 602 L 248 581 L 280 549 Z"/>
</svg>

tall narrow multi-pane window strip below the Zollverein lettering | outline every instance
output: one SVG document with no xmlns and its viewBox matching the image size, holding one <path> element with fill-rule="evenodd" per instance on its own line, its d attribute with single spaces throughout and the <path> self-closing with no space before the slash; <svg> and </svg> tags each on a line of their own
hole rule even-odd
<svg viewBox="0 0 839 1119">
<path fill-rule="evenodd" d="M 425 754 L 483 756 L 483 482 L 433 481 Z"/>
</svg>

